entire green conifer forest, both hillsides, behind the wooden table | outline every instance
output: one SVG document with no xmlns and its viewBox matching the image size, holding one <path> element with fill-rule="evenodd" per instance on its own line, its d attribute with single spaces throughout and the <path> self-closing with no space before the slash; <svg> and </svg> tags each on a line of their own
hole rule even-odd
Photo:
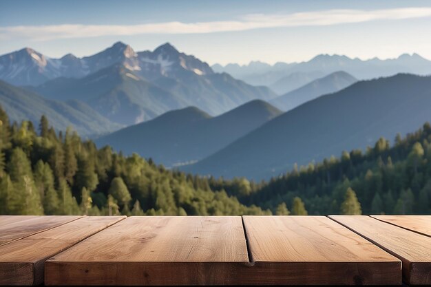
<svg viewBox="0 0 431 287">
<path fill-rule="evenodd" d="M 207 178 L 96 148 L 45 116 L 0 109 L 2 215 L 327 215 L 431 213 L 431 126 L 391 146 L 344 151 L 269 182 Z"/>
</svg>

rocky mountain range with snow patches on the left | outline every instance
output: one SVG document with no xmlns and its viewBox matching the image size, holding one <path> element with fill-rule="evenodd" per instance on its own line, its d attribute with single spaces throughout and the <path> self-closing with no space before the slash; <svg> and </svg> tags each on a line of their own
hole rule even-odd
<svg viewBox="0 0 431 287">
<path fill-rule="evenodd" d="M 250 100 L 270 100 L 254 87 L 169 43 L 134 52 L 118 42 L 92 56 L 51 59 L 30 48 L 0 56 L 0 79 L 55 100 L 80 100 L 120 125 L 149 120 L 171 109 L 196 106 L 218 115 Z"/>
</svg>

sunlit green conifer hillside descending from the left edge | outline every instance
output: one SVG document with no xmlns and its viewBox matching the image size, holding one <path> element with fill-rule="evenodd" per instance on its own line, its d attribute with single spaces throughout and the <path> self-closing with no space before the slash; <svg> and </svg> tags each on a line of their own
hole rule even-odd
<svg viewBox="0 0 431 287">
<path fill-rule="evenodd" d="M 247 182 L 248 183 L 248 182 Z M 240 182 L 238 181 L 238 184 Z M 250 188 L 250 187 L 249 187 Z M 208 180 L 168 171 L 136 154 L 96 149 L 43 117 L 10 125 L 0 110 L 0 214 L 269 214 L 247 207 Z"/>
</svg>

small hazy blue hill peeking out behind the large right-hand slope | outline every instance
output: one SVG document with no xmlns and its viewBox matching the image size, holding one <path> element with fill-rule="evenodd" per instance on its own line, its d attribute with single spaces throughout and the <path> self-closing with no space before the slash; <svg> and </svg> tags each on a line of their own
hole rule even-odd
<svg viewBox="0 0 431 287">
<path fill-rule="evenodd" d="M 323 78 L 318 78 L 317 80 L 312 81 L 303 87 L 299 87 L 292 92 L 288 92 L 287 94 L 274 98 L 270 103 L 279 109 L 288 111 L 308 102 L 308 100 L 313 100 L 318 96 L 334 93 L 340 89 L 344 89 L 356 81 L 357 79 L 355 77 L 346 72 L 335 72 L 328 76 L 324 76 Z"/>
</svg>

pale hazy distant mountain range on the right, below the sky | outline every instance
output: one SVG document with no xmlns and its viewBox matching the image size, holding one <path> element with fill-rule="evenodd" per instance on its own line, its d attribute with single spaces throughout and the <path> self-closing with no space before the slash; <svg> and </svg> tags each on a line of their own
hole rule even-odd
<svg viewBox="0 0 431 287">
<path fill-rule="evenodd" d="M 361 60 L 337 54 L 320 54 L 310 61 L 301 63 L 269 65 L 262 62 L 251 62 L 249 65 L 222 66 L 215 64 L 212 67 L 215 72 L 227 72 L 251 85 L 271 87 L 280 95 L 304 85 L 304 81 L 307 79 L 308 82 L 313 81 L 337 71 L 347 72 L 359 80 L 393 76 L 401 72 L 419 75 L 431 74 L 431 61 L 418 54 L 402 54 L 396 59 L 386 60 L 378 58 Z"/>
</svg>

